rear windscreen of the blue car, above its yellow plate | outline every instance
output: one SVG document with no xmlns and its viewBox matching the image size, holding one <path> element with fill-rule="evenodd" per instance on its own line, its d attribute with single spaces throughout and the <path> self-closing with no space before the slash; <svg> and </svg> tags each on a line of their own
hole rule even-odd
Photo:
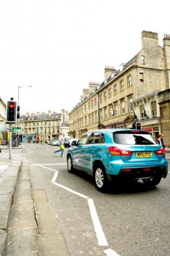
<svg viewBox="0 0 170 256">
<path fill-rule="evenodd" d="M 125 145 L 153 145 L 157 144 L 150 134 L 113 133 L 113 141 L 116 144 Z"/>
</svg>

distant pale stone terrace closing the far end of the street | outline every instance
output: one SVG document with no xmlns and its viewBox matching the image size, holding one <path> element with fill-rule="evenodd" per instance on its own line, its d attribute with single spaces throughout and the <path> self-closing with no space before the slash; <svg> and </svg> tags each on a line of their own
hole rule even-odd
<svg viewBox="0 0 170 256">
<path fill-rule="evenodd" d="M 48 114 L 45 112 L 37 112 L 37 115 L 34 113 L 26 115 L 21 115 L 18 119 L 17 124 L 13 126 L 21 127 L 21 134 L 23 137 L 23 142 L 35 139 L 40 141 L 55 140 L 59 138 L 61 133 L 68 134 L 68 111 L 64 109 L 61 110 L 61 113 L 52 113 L 48 111 Z"/>
</svg>

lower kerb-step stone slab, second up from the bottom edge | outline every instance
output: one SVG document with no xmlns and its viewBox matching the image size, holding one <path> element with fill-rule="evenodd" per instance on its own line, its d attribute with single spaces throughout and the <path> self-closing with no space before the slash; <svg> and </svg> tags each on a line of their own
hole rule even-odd
<svg viewBox="0 0 170 256">
<path fill-rule="evenodd" d="M 10 230 L 36 227 L 33 202 L 14 201 L 11 211 Z"/>
</svg>

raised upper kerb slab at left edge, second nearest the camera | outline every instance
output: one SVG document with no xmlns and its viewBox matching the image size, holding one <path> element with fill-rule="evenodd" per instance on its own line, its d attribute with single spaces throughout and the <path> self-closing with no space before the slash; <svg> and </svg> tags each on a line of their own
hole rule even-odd
<svg viewBox="0 0 170 256">
<path fill-rule="evenodd" d="M 0 230 L 8 231 L 9 217 L 12 206 L 12 195 L 0 195 Z"/>
</svg>

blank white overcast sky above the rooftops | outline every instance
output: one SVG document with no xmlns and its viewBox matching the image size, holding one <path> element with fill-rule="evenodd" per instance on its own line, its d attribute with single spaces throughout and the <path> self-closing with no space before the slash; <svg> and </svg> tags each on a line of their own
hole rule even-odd
<svg viewBox="0 0 170 256">
<path fill-rule="evenodd" d="M 0 98 L 20 114 L 71 111 L 89 81 L 170 34 L 169 0 L 0 0 Z M 20 87 L 18 89 L 18 87 Z M 19 91 L 19 93 L 18 93 Z"/>
</svg>

